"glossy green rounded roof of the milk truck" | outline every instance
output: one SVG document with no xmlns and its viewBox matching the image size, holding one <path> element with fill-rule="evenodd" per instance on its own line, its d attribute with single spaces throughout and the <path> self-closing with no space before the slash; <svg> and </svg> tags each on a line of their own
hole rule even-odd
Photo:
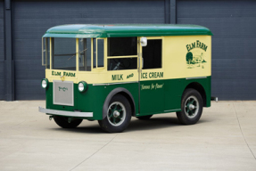
<svg viewBox="0 0 256 171">
<path fill-rule="evenodd" d="M 211 30 L 180 24 L 70 24 L 49 28 L 43 37 L 161 37 L 209 35 Z"/>
</svg>

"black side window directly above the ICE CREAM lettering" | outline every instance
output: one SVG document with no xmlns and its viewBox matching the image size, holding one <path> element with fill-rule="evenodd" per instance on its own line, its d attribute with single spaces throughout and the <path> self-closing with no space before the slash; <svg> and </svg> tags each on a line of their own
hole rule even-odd
<svg viewBox="0 0 256 171">
<path fill-rule="evenodd" d="M 161 44 L 161 39 L 147 40 L 147 45 L 142 49 L 143 69 L 161 68 Z"/>
</svg>

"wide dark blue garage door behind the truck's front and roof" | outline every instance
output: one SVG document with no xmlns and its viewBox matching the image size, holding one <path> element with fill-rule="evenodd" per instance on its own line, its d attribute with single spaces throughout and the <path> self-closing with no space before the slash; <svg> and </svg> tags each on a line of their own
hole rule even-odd
<svg viewBox="0 0 256 171">
<path fill-rule="evenodd" d="M 41 37 L 73 23 L 164 23 L 164 1 L 14 1 L 15 99 L 44 99 Z"/>
</svg>

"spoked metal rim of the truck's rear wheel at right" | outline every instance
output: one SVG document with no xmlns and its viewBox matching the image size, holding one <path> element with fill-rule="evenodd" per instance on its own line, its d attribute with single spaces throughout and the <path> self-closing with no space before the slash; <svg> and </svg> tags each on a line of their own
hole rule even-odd
<svg viewBox="0 0 256 171">
<path fill-rule="evenodd" d="M 198 114 L 199 102 L 195 96 L 189 96 L 185 102 L 185 113 L 188 118 L 194 118 Z"/>
</svg>

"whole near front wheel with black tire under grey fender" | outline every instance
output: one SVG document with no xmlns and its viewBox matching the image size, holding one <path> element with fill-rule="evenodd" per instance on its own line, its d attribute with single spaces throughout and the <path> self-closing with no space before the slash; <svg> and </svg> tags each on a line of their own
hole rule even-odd
<svg viewBox="0 0 256 171">
<path fill-rule="evenodd" d="M 108 133 L 120 133 L 128 127 L 130 119 L 130 103 L 125 96 L 117 94 L 112 97 L 109 103 L 107 116 L 98 122 L 103 131 Z"/>
</svg>

